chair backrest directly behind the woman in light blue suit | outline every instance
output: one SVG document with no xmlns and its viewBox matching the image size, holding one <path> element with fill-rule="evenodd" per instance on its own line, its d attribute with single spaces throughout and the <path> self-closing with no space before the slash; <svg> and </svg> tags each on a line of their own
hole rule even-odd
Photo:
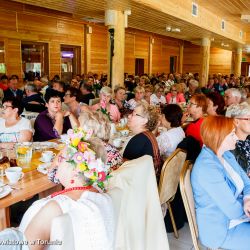
<svg viewBox="0 0 250 250">
<path fill-rule="evenodd" d="M 184 203 L 184 207 L 186 210 L 189 228 L 191 231 L 191 236 L 194 244 L 194 249 L 199 250 L 198 244 L 198 227 L 196 223 L 196 216 L 195 216 L 195 205 L 194 205 L 194 196 L 193 190 L 190 181 L 190 174 L 192 170 L 193 164 L 191 161 L 186 161 L 184 163 L 183 169 L 181 171 L 180 176 L 180 190 L 181 196 Z"/>
</svg>

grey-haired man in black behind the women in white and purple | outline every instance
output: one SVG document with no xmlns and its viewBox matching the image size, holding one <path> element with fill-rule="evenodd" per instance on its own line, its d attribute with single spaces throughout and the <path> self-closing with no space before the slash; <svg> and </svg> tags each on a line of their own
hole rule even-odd
<svg viewBox="0 0 250 250">
<path fill-rule="evenodd" d="M 45 102 L 41 95 L 37 92 L 36 85 L 34 83 L 27 83 L 24 87 L 26 97 L 22 100 L 22 105 L 26 111 L 42 112 L 46 109 Z"/>
</svg>

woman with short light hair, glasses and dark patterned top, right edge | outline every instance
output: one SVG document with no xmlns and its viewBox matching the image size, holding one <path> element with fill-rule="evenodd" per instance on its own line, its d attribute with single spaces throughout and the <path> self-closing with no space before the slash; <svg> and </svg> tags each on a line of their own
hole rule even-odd
<svg viewBox="0 0 250 250">
<path fill-rule="evenodd" d="M 250 106 L 246 102 L 233 104 L 227 108 L 226 116 L 234 118 L 235 133 L 239 138 L 232 153 L 250 177 Z"/>
</svg>

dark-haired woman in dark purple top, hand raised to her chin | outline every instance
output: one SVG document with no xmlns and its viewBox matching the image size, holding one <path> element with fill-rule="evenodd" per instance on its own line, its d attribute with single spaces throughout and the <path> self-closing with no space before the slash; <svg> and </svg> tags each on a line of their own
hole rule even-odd
<svg viewBox="0 0 250 250">
<path fill-rule="evenodd" d="M 48 141 L 59 138 L 70 128 L 78 127 L 78 120 L 69 111 L 62 111 L 61 97 L 51 92 L 45 97 L 47 110 L 41 112 L 34 124 L 34 141 Z"/>
</svg>

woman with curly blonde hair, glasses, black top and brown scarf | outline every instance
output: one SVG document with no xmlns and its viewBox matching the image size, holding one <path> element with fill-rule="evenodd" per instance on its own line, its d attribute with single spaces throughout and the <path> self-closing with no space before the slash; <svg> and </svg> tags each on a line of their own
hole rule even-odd
<svg viewBox="0 0 250 250">
<path fill-rule="evenodd" d="M 159 147 L 152 131 L 156 128 L 159 118 L 156 108 L 149 106 L 145 102 L 139 103 L 133 113 L 128 116 L 128 127 L 134 136 L 128 142 L 123 153 L 123 157 L 128 160 L 133 160 L 143 155 L 151 155 L 157 180 L 160 178 L 162 161 Z"/>
</svg>

